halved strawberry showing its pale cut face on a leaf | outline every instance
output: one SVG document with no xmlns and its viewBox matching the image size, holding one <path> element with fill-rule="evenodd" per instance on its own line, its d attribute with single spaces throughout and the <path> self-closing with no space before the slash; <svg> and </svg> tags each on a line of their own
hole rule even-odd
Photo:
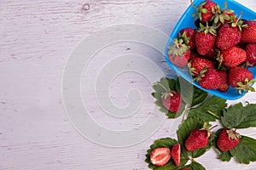
<svg viewBox="0 0 256 170">
<path fill-rule="evenodd" d="M 156 148 L 150 154 L 150 161 L 159 167 L 163 167 L 171 159 L 171 150 L 169 148 Z"/>
</svg>

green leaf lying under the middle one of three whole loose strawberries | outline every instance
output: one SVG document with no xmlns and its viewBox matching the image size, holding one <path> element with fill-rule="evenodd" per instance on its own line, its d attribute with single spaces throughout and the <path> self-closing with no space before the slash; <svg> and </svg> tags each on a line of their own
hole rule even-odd
<svg viewBox="0 0 256 170">
<path fill-rule="evenodd" d="M 185 140 L 189 137 L 189 134 L 191 133 L 191 131 L 195 129 L 200 129 L 201 127 L 203 127 L 203 124 L 204 122 L 201 122 L 196 118 L 189 117 L 183 122 L 183 124 L 180 125 L 180 127 L 177 130 L 177 139 L 178 139 L 178 142 L 182 145 L 184 150 L 186 150 L 184 147 Z M 209 142 L 207 147 L 202 148 L 200 150 L 194 150 L 192 152 L 188 151 L 188 153 L 189 153 L 189 156 L 196 158 L 204 155 L 207 152 L 207 150 L 211 149 L 211 147 L 212 147 L 212 144 L 211 142 Z"/>
</svg>

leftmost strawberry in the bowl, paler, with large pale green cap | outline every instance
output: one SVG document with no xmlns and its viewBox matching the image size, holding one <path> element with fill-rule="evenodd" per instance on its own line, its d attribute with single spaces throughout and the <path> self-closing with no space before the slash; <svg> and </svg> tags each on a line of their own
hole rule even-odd
<svg viewBox="0 0 256 170">
<path fill-rule="evenodd" d="M 190 57 L 189 46 L 183 40 L 174 39 L 174 45 L 169 47 L 168 57 L 173 65 L 183 68 L 188 64 Z"/>
</svg>

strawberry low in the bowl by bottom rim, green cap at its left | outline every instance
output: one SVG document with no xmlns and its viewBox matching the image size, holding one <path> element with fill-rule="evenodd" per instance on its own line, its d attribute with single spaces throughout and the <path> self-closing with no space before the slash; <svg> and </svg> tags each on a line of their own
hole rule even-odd
<svg viewBox="0 0 256 170">
<path fill-rule="evenodd" d="M 206 69 L 201 72 L 201 75 L 196 78 L 202 88 L 216 90 L 220 87 L 221 79 L 218 71 L 214 69 Z"/>
</svg>

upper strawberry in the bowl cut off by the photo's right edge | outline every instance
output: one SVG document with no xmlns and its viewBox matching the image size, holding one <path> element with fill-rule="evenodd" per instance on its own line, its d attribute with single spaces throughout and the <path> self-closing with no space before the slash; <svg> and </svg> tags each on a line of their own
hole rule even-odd
<svg viewBox="0 0 256 170">
<path fill-rule="evenodd" d="M 241 30 L 241 41 L 256 43 L 256 20 L 249 20 L 246 23 L 247 28 Z"/>
</svg>

